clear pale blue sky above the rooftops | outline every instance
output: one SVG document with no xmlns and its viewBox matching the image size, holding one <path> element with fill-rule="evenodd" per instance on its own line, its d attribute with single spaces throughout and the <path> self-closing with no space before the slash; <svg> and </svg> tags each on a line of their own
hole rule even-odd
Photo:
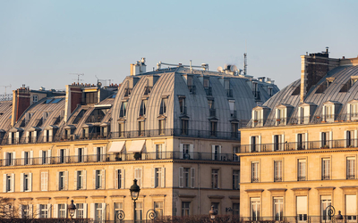
<svg viewBox="0 0 358 223">
<path fill-rule="evenodd" d="M 243 68 L 246 40 L 249 74 L 282 88 L 300 78 L 306 52 L 358 55 L 357 8 L 354 0 L 0 0 L 0 86 L 63 89 L 72 72 L 121 83 L 141 57 L 147 70 L 189 60 Z"/>
</svg>

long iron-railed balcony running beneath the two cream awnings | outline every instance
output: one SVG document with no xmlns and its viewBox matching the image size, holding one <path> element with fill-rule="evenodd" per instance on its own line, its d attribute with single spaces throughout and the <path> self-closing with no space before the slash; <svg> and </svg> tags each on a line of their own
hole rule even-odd
<svg viewBox="0 0 358 223">
<path fill-rule="evenodd" d="M 151 161 L 151 160 L 192 160 L 192 161 L 234 161 L 231 153 L 217 154 L 217 159 L 213 159 L 213 153 L 182 153 L 182 152 L 161 152 L 161 153 L 114 153 L 114 154 L 94 154 L 77 156 L 52 156 L 37 157 L 28 159 L 4 159 L 0 160 L 0 166 L 29 166 L 29 165 L 51 165 L 51 164 L 71 164 L 86 162 L 109 162 L 109 161 Z M 237 161 L 235 161 L 237 162 Z"/>
</svg>

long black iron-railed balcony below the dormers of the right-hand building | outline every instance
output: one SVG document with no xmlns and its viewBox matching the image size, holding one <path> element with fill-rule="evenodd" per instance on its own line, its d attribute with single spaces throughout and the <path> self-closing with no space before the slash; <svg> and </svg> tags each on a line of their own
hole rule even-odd
<svg viewBox="0 0 358 223">
<path fill-rule="evenodd" d="M 282 144 L 256 144 L 240 145 L 239 153 L 270 153 L 277 151 L 301 151 L 301 150 L 320 150 L 320 149 L 339 149 L 357 147 L 358 139 L 326 140 L 324 146 L 322 141 L 307 142 L 287 142 Z"/>
</svg>

